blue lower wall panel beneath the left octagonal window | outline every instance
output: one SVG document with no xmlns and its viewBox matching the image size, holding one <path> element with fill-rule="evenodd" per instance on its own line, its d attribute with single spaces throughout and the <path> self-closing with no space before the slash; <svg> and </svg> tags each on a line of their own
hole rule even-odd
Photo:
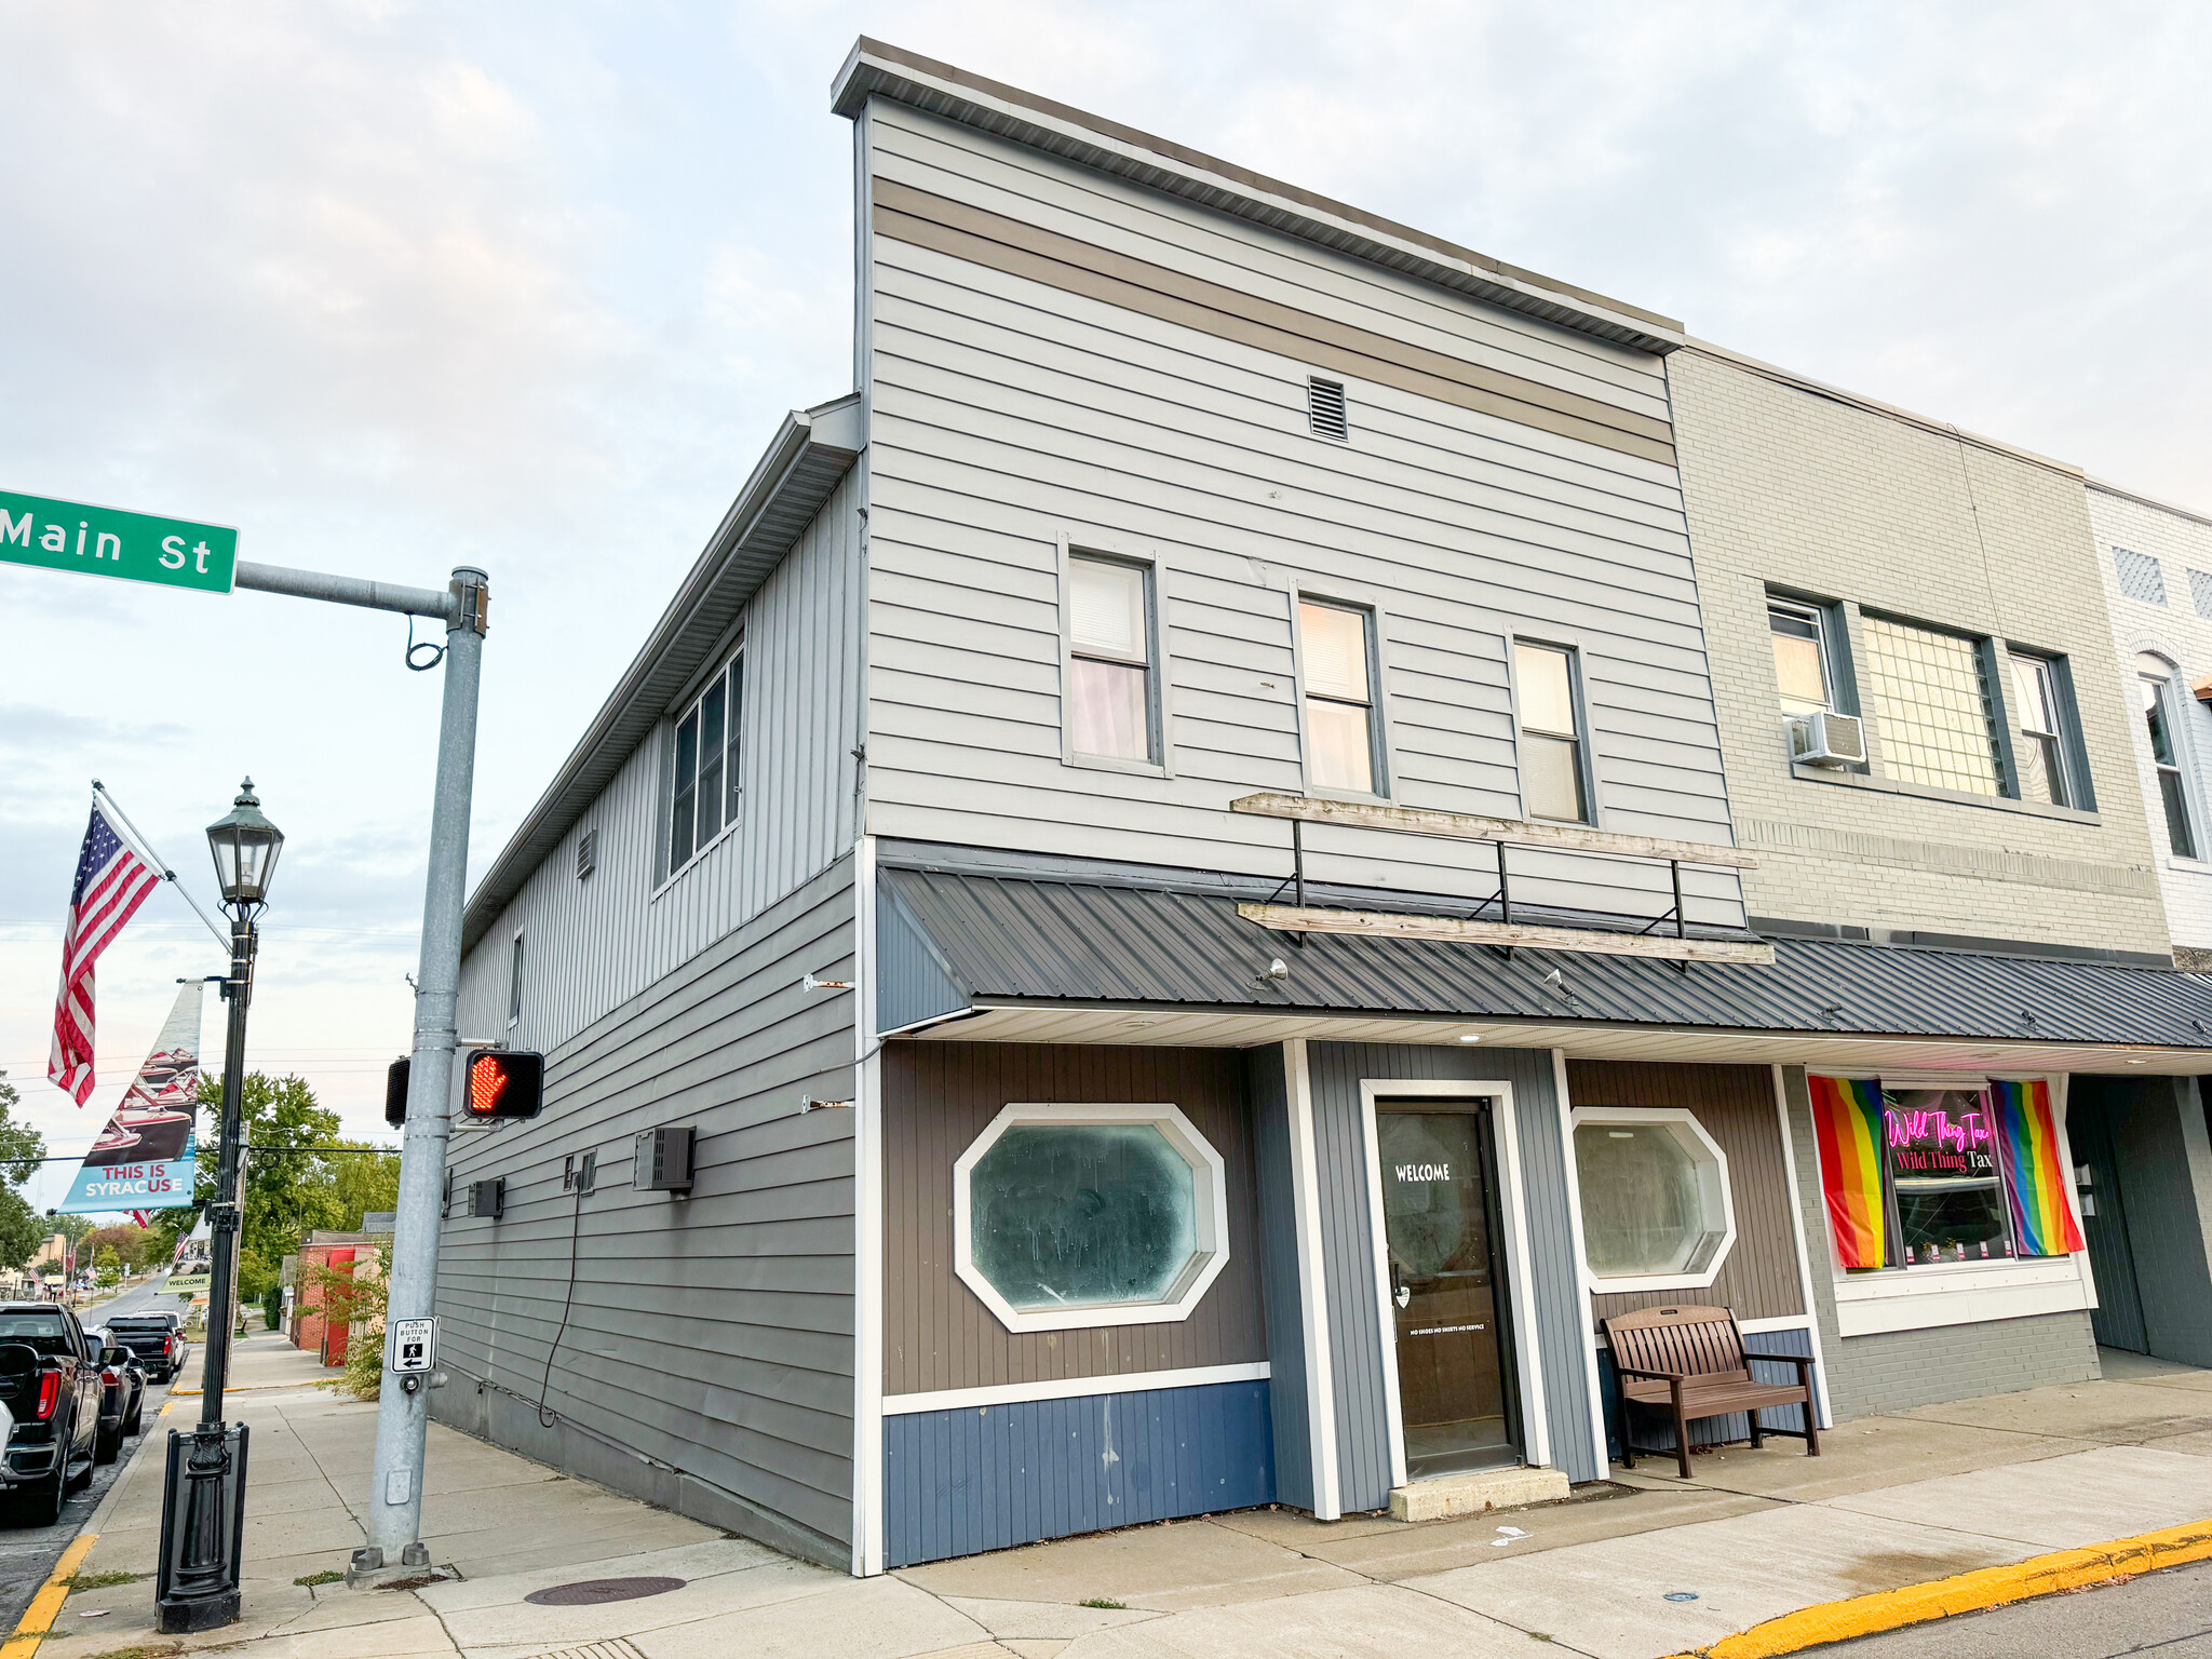
<svg viewBox="0 0 2212 1659">
<path fill-rule="evenodd" d="M 1265 1383 L 883 1420 L 887 1566 L 1272 1502 Z"/>
</svg>

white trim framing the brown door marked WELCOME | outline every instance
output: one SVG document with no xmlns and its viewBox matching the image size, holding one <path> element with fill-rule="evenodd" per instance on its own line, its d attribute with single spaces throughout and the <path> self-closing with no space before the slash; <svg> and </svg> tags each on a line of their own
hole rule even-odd
<svg viewBox="0 0 2212 1659">
<path fill-rule="evenodd" d="M 1522 1462 L 1551 1469 L 1551 1418 L 1544 1402 L 1544 1358 L 1537 1352 L 1535 1279 L 1528 1267 L 1528 1210 L 1520 1164 L 1520 1124 L 1513 1084 L 1455 1077 L 1360 1077 L 1360 1128 L 1367 1152 L 1367 1232 L 1376 1272 L 1376 1338 L 1383 1345 L 1383 1407 L 1389 1425 L 1391 1486 L 1405 1486 L 1405 1405 L 1398 1391 L 1398 1323 L 1389 1290 L 1389 1239 L 1383 1232 L 1383 1148 L 1376 1137 L 1378 1099 L 1489 1099 L 1498 1135 L 1498 1208 L 1506 1234 L 1506 1285 L 1513 1305 L 1513 1358 L 1520 1369 Z"/>
</svg>

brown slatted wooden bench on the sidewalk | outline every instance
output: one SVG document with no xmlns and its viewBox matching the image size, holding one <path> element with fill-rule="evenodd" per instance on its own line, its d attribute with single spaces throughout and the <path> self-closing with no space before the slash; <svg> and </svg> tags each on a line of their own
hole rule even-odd
<svg viewBox="0 0 2212 1659">
<path fill-rule="evenodd" d="M 1639 1307 L 1635 1314 L 1599 1321 L 1613 1347 L 1613 1371 L 1621 1389 L 1621 1467 L 1637 1467 L 1635 1407 L 1674 1418 L 1674 1458 L 1690 1480 L 1690 1422 L 1743 1411 L 1752 1420 L 1752 1447 L 1763 1436 L 1785 1433 L 1805 1442 L 1805 1455 L 1820 1455 L 1820 1427 L 1812 1398 L 1812 1360 L 1803 1354 L 1745 1354 L 1736 1316 L 1725 1307 Z M 1794 1365 L 1796 1383 L 1761 1383 L 1752 1365 Z M 1759 1413 L 1776 1405 L 1803 1405 L 1803 1429 L 1761 1429 Z M 1646 1447 L 1657 1451 L 1657 1447 Z"/>
</svg>

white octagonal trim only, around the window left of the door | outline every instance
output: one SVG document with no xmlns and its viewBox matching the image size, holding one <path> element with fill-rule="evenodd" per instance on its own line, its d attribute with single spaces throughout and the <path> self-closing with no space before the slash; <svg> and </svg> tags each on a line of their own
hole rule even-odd
<svg viewBox="0 0 2212 1659">
<path fill-rule="evenodd" d="M 975 1267 L 973 1254 L 973 1203 L 969 1201 L 969 1179 L 975 1164 L 998 1139 L 1020 1124 L 1146 1124 L 1168 1137 L 1168 1144 L 1188 1159 L 1197 1177 L 1194 1194 L 1199 1214 L 1194 1217 L 1199 1261 L 1188 1267 L 1175 1292 L 1157 1303 L 1091 1303 L 1086 1307 L 1015 1307 Z M 982 1135 L 953 1164 L 953 1272 L 960 1283 L 975 1292 L 975 1298 L 991 1310 L 1009 1332 L 1073 1332 L 1108 1325 L 1179 1325 L 1190 1318 L 1206 1292 L 1230 1265 L 1230 1186 L 1228 1164 L 1197 1126 L 1183 1117 L 1183 1108 L 1168 1102 L 1150 1104 L 1091 1104 L 1091 1102 L 1011 1102 L 993 1117 Z"/>
</svg>

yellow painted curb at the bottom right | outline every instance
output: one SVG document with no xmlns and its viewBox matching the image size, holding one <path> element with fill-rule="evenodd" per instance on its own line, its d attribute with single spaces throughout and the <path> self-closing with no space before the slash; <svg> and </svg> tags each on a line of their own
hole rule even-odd
<svg viewBox="0 0 2212 1659">
<path fill-rule="evenodd" d="M 2028 1601 L 2057 1590 L 2079 1590 L 2086 1584 L 2117 1584 L 2163 1566 L 2212 1559 L 2212 1520 L 2168 1526 L 2159 1533 L 2115 1537 L 2077 1551 L 2031 1555 L 2011 1566 L 1984 1566 L 1929 1584 L 1907 1584 L 1902 1590 L 1854 1595 L 1847 1601 L 1820 1601 L 1754 1624 L 1710 1648 L 1692 1648 L 1672 1659 L 1776 1659 L 1776 1655 L 1818 1648 L 1829 1641 L 1871 1637 L 1900 1630 L 1907 1624 L 1949 1619 L 1955 1613 L 1982 1613 L 2013 1601 Z M 0 1659 L 11 1659 L 0 1652 Z"/>
</svg>

